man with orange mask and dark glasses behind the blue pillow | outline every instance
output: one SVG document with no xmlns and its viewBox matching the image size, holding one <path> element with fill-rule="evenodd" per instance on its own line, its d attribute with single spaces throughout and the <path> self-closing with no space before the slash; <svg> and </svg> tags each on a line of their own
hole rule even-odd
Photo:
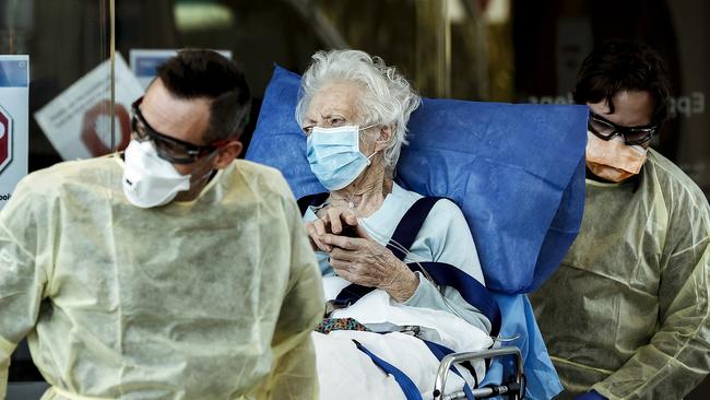
<svg viewBox="0 0 710 400">
<path fill-rule="evenodd" d="M 533 294 L 560 398 L 681 399 L 710 370 L 710 207 L 649 149 L 670 84 L 655 51 L 611 42 L 582 63 L 590 109 L 579 236 Z"/>
</svg>

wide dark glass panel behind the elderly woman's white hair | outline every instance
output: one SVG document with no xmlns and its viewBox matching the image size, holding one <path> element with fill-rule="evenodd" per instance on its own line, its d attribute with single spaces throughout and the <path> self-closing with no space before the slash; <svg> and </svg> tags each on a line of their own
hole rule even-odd
<svg viewBox="0 0 710 400">
<path fill-rule="evenodd" d="M 143 83 L 152 78 L 145 49 L 230 51 L 256 97 L 248 144 L 273 64 L 300 73 L 320 49 L 378 55 L 426 96 L 510 101 L 510 4 L 492 9 L 460 0 L 121 0 L 116 45 Z"/>
</svg>

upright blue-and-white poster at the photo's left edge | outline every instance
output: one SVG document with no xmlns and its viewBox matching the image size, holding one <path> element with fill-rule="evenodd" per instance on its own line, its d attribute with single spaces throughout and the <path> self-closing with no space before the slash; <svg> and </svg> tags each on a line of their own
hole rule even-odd
<svg viewBox="0 0 710 400">
<path fill-rule="evenodd" d="M 0 55 L 0 209 L 27 175 L 29 56 Z"/>
</svg>

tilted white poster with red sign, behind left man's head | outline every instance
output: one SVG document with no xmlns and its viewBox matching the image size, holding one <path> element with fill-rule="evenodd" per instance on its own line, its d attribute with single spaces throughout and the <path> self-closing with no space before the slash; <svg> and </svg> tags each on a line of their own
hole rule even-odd
<svg viewBox="0 0 710 400">
<path fill-rule="evenodd" d="M 131 139 L 131 104 L 143 87 L 116 54 L 116 133 L 111 138 L 110 63 L 104 61 L 35 113 L 35 119 L 64 160 L 91 158 L 123 150 Z"/>
</svg>

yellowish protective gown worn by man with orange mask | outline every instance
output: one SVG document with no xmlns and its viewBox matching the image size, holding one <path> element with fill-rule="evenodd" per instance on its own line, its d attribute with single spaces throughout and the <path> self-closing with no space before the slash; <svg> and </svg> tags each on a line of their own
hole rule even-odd
<svg viewBox="0 0 710 400">
<path fill-rule="evenodd" d="M 531 296 L 567 388 L 681 399 L 710 370 L 710 208 L 649 150 L 638 187 L 587 180 L 577 240 Z"/>
</svg>

